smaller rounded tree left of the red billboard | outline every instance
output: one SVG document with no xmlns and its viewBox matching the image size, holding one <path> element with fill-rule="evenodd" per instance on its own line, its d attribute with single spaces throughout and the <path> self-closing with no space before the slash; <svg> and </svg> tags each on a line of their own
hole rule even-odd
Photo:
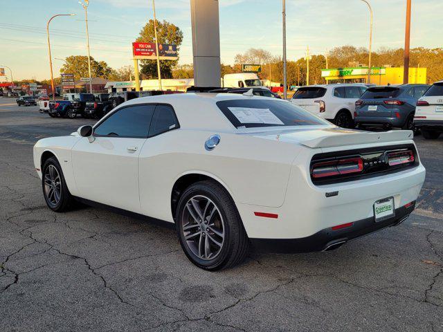
<svg viewBox="0 0 443 332">
<path fill-rule="evenodd" d="M 66 64 L 62 66 L 60 73 L 74 74 L 75 80 L 80 80 L 80 77 L 89 77 L 88 57 L 86 55 L 66 57 Z M 108 78 L 111 73 L 112 68 L 106 62 L 97 62 L 91 57 L 91 77 Z"/>
</svg>

